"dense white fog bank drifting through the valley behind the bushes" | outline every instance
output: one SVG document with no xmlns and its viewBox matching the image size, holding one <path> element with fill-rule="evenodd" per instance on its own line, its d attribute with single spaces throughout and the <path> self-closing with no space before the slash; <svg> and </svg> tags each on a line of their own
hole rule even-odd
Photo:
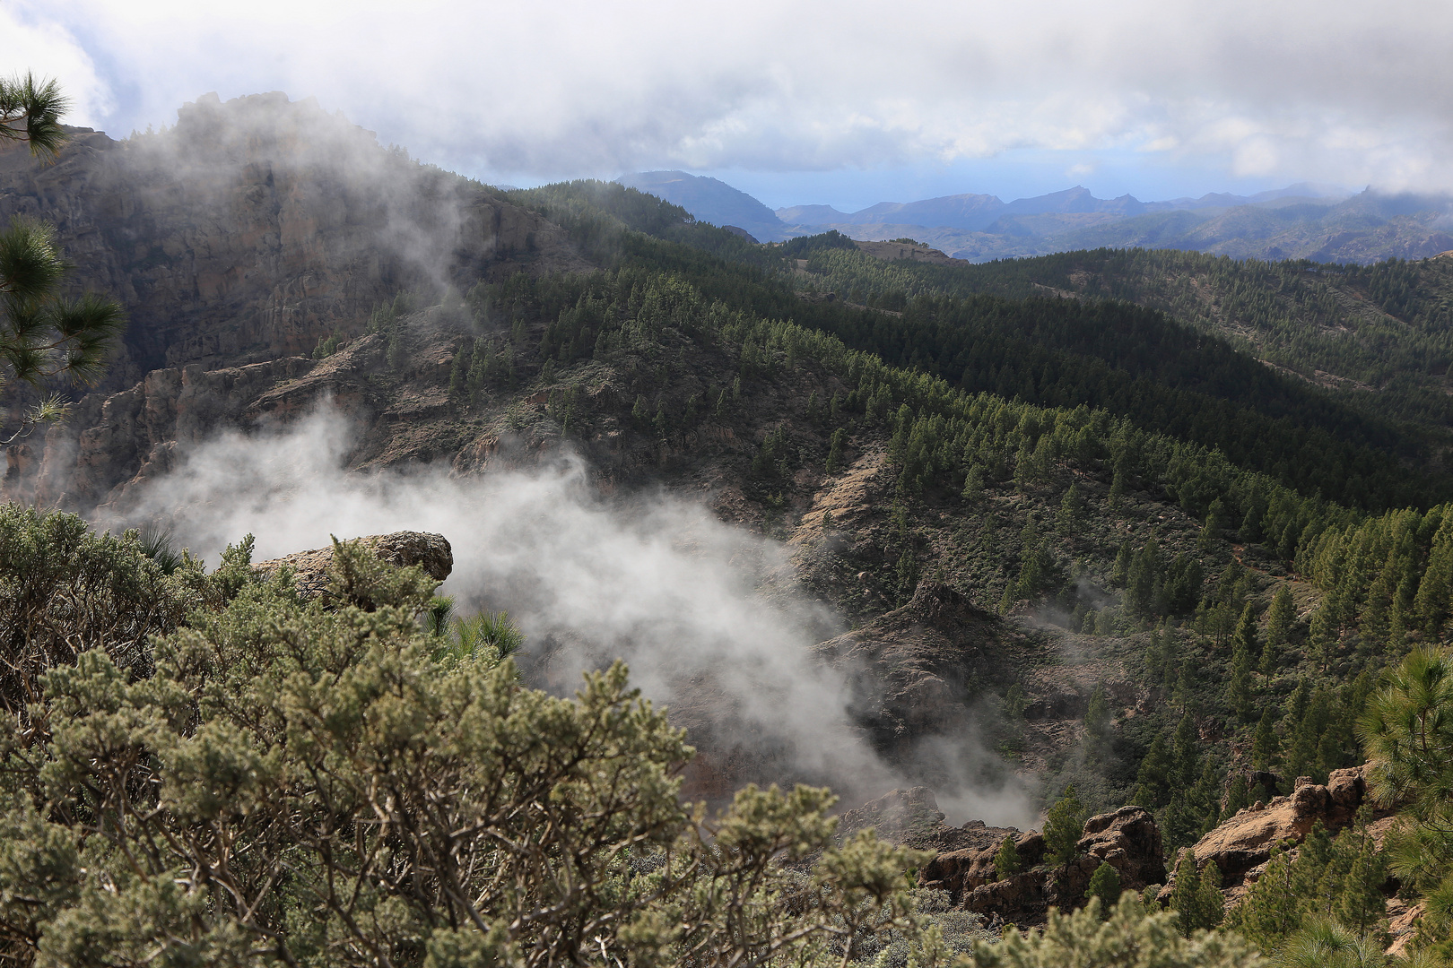
<svg viewBox="0 0 1453 968">
<path fill-rule="evenodd" d="M 125 522 L 170 527 L 179 547 L 214 567 L 248 533 L 253 560 L 264 560 L 325 547 L 330 536 L 436 531 L 455 556 L 440 594 L 464 614 L 509 610 L 535 681 L 571 691 L 581 670 L 625 657 L 652 700 L 687 704 L 689 723 L 715 717 L 729 734 L 709 746 L 776 763 L 766 768 L 774 775 L 750 779 L 830 784 L 844 807 L 921 779 L 873 753 L 849 723 L 841 675 L 811 660 L 808 647 L 840 620 L 761 594 L 789 567 L 780 544 L 664 493 L 607 502 L 571 456 L 458 479 L 430 467 L 349 473 L 350 448 L 352 428 L 328 408 L 288 428 L 227 432 L 148 485 Z M 921 745 L 949 820 L 1033 826 L 1021 785 L 969 779 L 984 756 L 972 736 Z"/>
</svg>

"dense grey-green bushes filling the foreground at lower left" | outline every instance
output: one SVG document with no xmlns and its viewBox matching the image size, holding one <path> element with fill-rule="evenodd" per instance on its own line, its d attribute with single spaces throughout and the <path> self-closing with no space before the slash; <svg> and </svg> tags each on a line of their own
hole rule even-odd
<svg viewBox="0 0 1453 968">
<path fill-rule="evenodd" d="M 9 505 L 0 537 L 0 604 L 89 643 L 26 655 L 38 694 L 0 733 L 9 964 L 1254 964 L 1129 897 L 989 945 L 911 888 L 921 853 L 835 839 L 825 789 L 747 788 L 706 820 L 677 797 L 686 737 L 620 665 L 574 700 L 523 688 L 427 628 L 432 579 L 356 544 L 325 608 L 250 543 L 166 576 L 64 514 Z M 35 560 L 49 594 L 16 581 Z M 81 576 L 108 608 L 73 608 Z M 158 588 L 185 614 L 112 640 Z"/>
</svg>

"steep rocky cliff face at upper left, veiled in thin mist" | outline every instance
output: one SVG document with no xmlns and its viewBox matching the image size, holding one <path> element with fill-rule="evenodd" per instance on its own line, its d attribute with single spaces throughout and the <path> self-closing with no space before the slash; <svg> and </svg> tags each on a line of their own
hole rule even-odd
<svg viewBox="0 0 1453 968">
<path fill-rule="evenodd" d="M 49 165 L 0 151 L 16 215 L 52 222 L 74 282 L 126 308 L 110 390 L 309 353 L 400 290 L 586 267 L 538 215 L 283 94 L 206 96 L 125 141 L 77 131 Z"/>
</svg>

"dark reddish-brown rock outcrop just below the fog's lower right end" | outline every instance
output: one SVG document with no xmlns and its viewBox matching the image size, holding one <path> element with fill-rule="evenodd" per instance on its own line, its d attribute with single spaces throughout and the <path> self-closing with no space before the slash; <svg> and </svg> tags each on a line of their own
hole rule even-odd
<svg viewBox="0 0 1453 968">
<path fill-rule="evenodd" d="M 1045 839 L 1013 829 L 1020 864 L 1029 869 L 1005 879 L 994 872 L 994 855 L 1003 836 L 989 846 L 950 850 L 930 861 L 918 875 L 924 887 L 949 891 L 965 910 L 1016 924 L 1040 923 L 1051 907 L 1080 906 L 1096 868 L 1109 864 L 1126 890 L 1144 890 L 1165 879 L 1165 855 L 1155 817 L 1144 807 L 1122 807 L 1090 817 L 1080 837 L 1080 856 L 1061 866 L 1045 866 Z"/>
</svg>

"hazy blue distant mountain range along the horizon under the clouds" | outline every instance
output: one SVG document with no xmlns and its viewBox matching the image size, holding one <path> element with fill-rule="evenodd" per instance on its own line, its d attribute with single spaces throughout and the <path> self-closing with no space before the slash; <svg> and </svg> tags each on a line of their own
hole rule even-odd
<svg viewBox="0 0 1453 968">
<path fill-rule="evenodd" d="M 908 237 L 969 261 L 1101 247 L 1328 263 L 1424 258 L 1453 250 L 1453 196 L 1353 194 L 1306 183 L 1165 202 L 1141 202 L 1132 194 L 1097 199 L 1075 186 L 1013 202 L 950 194 L 840 212 L 827 205 L 772 210 L 725 181 L 684 171 L 644 171 L 619 181 L 758 241 L 837 229 L 863 241 Z"/>
</svg>

